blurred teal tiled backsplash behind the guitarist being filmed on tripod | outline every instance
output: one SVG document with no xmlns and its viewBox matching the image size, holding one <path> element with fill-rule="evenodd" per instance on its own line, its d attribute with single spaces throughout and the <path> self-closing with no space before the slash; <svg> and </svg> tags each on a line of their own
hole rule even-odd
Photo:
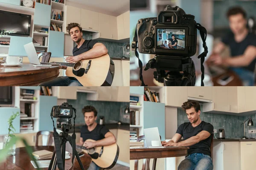
<svg viewBox="0 0 256 170">
<path fill-rule="evenodd" d="M 76 123 L 84 124 L 84 114 L 82 113 L 82 108 L 87 105 L 92 105 L 98 111 L 97 122 L 99 122 L 99 116 L 105 117 L 105 123 L 117 123 L 121 121 L 122 123 L 129 123 L 130 119 L 124 118 L 125 107 L 129 105 L 128 102 L 105 102 L 105 101 L 88 101 L 86 99 L 86 93 L 77 93 L 77 99 L 68 99 L 67 102 L 76 108 Z"/>
</svg>

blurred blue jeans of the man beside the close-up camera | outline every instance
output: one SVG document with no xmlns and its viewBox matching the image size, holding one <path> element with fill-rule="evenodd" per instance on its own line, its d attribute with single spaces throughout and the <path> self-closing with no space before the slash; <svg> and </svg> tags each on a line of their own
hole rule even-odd
<svg viewBox="0 0 256 170">
<path fill-rule="evenodd" d="M 244 86 L 254 86 L 254 73 L 244 68 L 230 68 L 242 80 Z"/>
</svg>

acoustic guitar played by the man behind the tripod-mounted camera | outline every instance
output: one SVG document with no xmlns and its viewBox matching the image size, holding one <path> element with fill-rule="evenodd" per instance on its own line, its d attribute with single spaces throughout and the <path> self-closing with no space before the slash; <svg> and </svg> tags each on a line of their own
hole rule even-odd
<svg viewBox="0 0 256 170">
<path fill-rule="evenodd" d="M 87 139 L 85 142 L 95 142 L 95 140 Z M 116 143 L 108 146 L 92 147 L 90 149 L 76 145 L 76 148 L 80 148 L 84 153 L 90 155 L 93 162 L 103 169 L 114 167 L 119 156 L 119 147 Z"/>
</svg>

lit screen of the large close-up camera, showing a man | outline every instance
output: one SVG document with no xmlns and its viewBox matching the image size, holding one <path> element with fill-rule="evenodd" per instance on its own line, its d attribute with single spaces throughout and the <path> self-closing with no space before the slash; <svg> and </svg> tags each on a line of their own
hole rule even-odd
<svg viewBox="0 0 256 170">
<path fill-rule="evenodd" d="M 157 48 L 185 50 L 185 29 L 157 29 Z"/>
</svg>

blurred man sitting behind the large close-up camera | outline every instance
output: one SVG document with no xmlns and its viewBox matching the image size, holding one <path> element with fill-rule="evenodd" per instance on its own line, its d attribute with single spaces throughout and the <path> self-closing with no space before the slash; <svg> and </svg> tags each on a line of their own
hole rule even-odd
<svg viewBox="0 0 256 170">
<path fill-rule="evenodd" d="M 245 86 L 252 86 L 255 79 L 256 35 L 249 33 L 246 27 L 246 13 L 241 7 L 230 8 L 227 11 L 227 18 L 231 32 L 215 45 L 207 63 L 230 67 Z M 230 47 L 231 57 L 222 58 L 220 54 L 226 45 Z"/>
</svg>

